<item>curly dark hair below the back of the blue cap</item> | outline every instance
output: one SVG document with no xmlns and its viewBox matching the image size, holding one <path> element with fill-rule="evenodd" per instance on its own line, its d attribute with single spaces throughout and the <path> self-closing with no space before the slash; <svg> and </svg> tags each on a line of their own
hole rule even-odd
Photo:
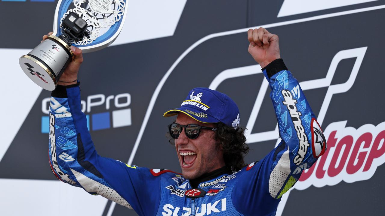
<svg viewBox="0 0 385 216">
<path fill-rule="evenodd" d="M 231 171 L 236 172 L 247 166 L 244 163 L 244 156 L 249 152 L 249 146 L 246 144 L 246 136 L 244 131 L 246 128 L 239 127 L 234 129 L 222 122 L 216 123 L 218 130 L 214 135 L 214 139 L 218 141 L 218 145 L 223 149 L 224 163 Z"/>
</svg>

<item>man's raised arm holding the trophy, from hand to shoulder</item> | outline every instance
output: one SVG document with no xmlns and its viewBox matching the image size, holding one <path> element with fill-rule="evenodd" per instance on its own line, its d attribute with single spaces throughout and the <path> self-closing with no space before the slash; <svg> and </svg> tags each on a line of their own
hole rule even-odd
<svg viewBox="0 0 385 216">
<path fill-rule="evenodd" d="M 60 78 L 65 82 L 59 82 L 63 85 L 58 85 L 51 95 L 49 163 L 52 172 L 65 183 L 132 208 L 139 215 L 155 215 L 157 206 L 153 203 L 160 201 L 160 176 L 147 168 L 128 166 L 96 152 L 86 116 L 81 111 L 79 81 L 74 81 L 82 63 L 82 52 L 75 48 L 74 53 L 74 61 Z"/>
</svg>

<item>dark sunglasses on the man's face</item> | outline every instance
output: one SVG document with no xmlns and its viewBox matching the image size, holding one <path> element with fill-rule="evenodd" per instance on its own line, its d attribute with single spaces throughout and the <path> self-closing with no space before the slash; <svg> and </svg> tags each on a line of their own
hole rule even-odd
<svg viewBox="0 0 385 216">
<path fill-rule="evenodd" d="M 179 125 L 178 123 L 172 123 L 168 125 L 169 132 L 172 138 L 176 139 L 182 133 L 182 128 L 184 128 L 184 134 L 190 139 L 196 139 L 201 132 L 201 129 L 216 131 L 218 128 L 204 127 L 195 124 L 188 125 Z"/>
</svg>

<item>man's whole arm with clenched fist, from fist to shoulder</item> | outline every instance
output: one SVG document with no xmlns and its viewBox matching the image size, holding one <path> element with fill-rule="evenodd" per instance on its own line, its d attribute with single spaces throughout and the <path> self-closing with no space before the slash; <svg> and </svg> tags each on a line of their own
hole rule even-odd
<svg viewBox="0 0 385 216">
<path fill-rule="evenodd" d="M 298 81 L 280 58 L 278 36 L 264 28 L 248 31 L 249 53 L 261 65 L 269 82 L 281 137 L 280 144 L 257 163 L 250 164 L 238 179 L 240 187 L 233 197 L 243 197 L 243 213 L 271 213 L 281 196 L 326 150 L 326 141 L 316 116 Z M 246 187 L 244 185 L 247 185 Z M 254 201 L 247 209 L 245 202 Z M 252 210 L 252 211 L 251 211 Z"/>
</svg>

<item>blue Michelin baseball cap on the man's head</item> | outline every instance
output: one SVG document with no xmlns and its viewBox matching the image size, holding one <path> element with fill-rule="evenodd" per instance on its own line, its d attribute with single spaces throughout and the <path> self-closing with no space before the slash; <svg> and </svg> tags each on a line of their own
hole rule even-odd
<svg viewBox="0 0 385 216">
<path fill-rule="evenodd" d="M 222 122 L 235 129 L 239 126 L 239 109 L 235 102 L 226 94 L 209 88 L 192 89 L 181 107 L 171 109 L 163 116 L 170 117 L 179 112 L 203 123 Z"/>
</svg>

